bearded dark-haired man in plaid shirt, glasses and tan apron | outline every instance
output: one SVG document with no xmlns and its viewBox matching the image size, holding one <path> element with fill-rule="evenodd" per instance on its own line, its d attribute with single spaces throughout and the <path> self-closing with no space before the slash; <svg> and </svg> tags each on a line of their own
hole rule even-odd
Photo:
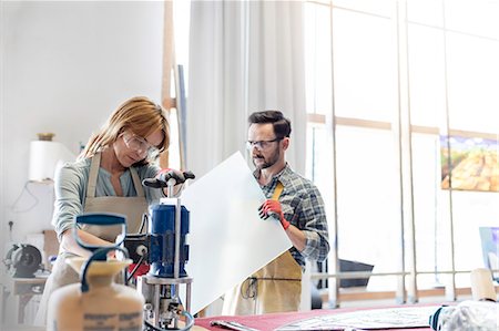
<svg viewBox="0 0 499 331">
<path fill-rule="evenodd" d="M 329 252 L 324 203 L 317 187 L 286 163 L 289 120 L 264 111 L 249 115 L 248 124 L 254 176 L 267 197 L 259 216 L 279 220 L 293 247 L 226 293 L 223 314 L 297 311 L 305 259 L 323 261 Z"/>
</svg>

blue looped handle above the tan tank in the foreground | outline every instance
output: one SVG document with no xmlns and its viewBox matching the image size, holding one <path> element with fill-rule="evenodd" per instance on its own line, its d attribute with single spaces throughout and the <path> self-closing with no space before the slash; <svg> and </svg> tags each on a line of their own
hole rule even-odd
<svg viewBox="0 0 499 331">
<path fill-rule="evenodd" d="M 116 249 L 118 246 L 121 246 L 123 242 L 125 235 L 126 235 L 126 217 L 119 214 L 111 214 L 111 213 L 89 213 L 89 214 L 82 214 L 77 215 L 74 217 L 74 220 L 77 223 L 77 226 L 73 229 L 73 236 L 77 239 L 78 245 L 83 247 L 84 249 L 96 251 L 102 246 L 99 245 L 89 245 L 81 240 L 80 236 L 78 235 L 78 225 L 93 225 L 93 226 L 115 226 L 121 225 L 121 236 L 118 236 L 119 240 L 114 242 L 113 245 L 105 247 L 110 249 Z M 105 260 L 106 256 L 98 256 L 96 259 L 99 260 Z"/>
</svg>

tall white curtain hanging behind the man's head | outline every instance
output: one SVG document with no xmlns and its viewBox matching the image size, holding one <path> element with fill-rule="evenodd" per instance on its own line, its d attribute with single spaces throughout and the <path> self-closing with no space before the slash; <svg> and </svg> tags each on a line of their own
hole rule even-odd
<svg viewBox="0 0 499 331">
<path fill-rule="evenodd" d="M 202 176 L 236 151 L 247 116 L 279 110 L 292 121 L 287 162 L 305 170 L 302 1 L 193 1 L 186 115 L 187 168 Z"/>
</svg>

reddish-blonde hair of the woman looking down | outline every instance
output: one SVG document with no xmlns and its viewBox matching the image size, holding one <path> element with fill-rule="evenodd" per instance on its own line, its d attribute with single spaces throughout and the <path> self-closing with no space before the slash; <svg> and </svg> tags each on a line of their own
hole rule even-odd
<svg viewBox="0 0 499 331">
<path fill-rule="evenodd" d="M 161 130 L 163 131 L 163 141 L 157 146 L 160 153 L 167 149 L 170 145 L 170 126 L 164 110 L 145 96 L 135 96 L 121 104 L 111 114 L 104 126 L 90 137 L 80 158 L 92 157 L 114 143 L 128 130 L 141 137 L 146 137 Z M 146 164 L 150 161 L 146 158 L 140 164 Z"/>
</svg>

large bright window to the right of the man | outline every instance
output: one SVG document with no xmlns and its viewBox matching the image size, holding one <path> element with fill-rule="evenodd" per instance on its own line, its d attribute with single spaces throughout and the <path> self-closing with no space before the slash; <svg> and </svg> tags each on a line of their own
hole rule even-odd
<svg viewBox="0 0 499 331">
<path fill-rule="evenodd" d="M 399 272 L 405 251 L 419 289 L 469 287 L 460 271 L 483 266 L 478 228 L 499 226 L 499 194 L 441 189 L 440 135 L 498 139 L 498 15 L 485 0 L 306 2 L 307 173 L 339 258 Z"/>
</svg>

